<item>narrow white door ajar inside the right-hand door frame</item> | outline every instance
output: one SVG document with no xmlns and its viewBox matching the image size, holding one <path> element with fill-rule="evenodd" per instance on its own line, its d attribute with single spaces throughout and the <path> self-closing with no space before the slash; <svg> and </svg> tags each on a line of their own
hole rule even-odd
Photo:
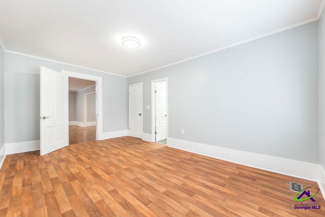
<svg viewBox="0 0 325 217">
<path fill-rule="evenodd" d="M 156 83 L 156 142 L 167 139 L 166 81 Z"/>
</svg>

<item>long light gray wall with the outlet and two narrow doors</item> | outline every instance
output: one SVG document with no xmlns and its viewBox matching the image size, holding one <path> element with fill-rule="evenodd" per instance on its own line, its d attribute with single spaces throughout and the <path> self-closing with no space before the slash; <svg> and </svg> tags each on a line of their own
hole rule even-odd
<svg viewBox="0 0 325 217">
<path fill-rule="evenodd" d="M 319 163 L 317 21 L 129 77 L 143 82 L 144 133 L 164 77 L 170 138 Z"/>
</svg>

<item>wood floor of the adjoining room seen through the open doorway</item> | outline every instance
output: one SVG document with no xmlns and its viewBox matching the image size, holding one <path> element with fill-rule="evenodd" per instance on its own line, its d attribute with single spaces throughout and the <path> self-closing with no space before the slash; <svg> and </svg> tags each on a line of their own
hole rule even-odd
<svg viewBox="0 0 325 217">
<path fill-rule="evenodd" d="M 96 140 L 96 126 L 69 126 L 69 144 L 90 142 Z"/>
</svg>

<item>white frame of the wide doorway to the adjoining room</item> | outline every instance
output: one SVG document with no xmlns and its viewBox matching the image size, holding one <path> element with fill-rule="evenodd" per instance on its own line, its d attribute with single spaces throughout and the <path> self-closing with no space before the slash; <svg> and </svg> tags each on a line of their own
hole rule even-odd
<svg viewBox="0 0 325 217">
<path fill-rule="evenodd" d="M 96 140 L 99 140 L 100 135 L 103 133 L 103 83 L 102 77 L 88 75 L 78 72 L 71 72 L 67 70 L 61 70 L 62 74 L 67 75 L 67 77 L 80 78 L 85 80 L 95 81 L 95 98 L 96 98 Z M 68 90 L 69 91 L 69 90 Z M 68 111 L 69 111 L 69 104 Z"/>
</svg>

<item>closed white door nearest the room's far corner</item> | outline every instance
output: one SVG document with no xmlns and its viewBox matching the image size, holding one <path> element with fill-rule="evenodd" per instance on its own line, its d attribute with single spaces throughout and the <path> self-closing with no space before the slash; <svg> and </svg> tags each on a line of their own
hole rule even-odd
<svg viewBox="0 0 325 217">
<path fill-rule="evenodd" d="M 129 86 L 129 135 L 142 139 L 142 83 Z"/>
</svg>

